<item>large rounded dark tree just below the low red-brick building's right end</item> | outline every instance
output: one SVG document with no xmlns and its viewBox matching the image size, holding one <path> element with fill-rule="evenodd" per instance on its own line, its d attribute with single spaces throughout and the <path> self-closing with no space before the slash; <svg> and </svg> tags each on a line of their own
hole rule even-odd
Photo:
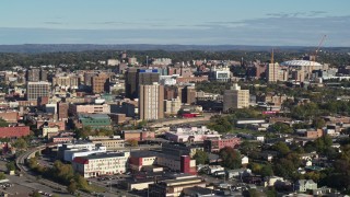
<svg viewBox="0 0 350 197">
<path fill-rule="evenodd" d="M 242 164 L 241 154 L 231 147 L 225 147 L 220 150 L 219 157 L 222 160 L 222 165 L 228 169 L 238 169 Z"/>
</svg>

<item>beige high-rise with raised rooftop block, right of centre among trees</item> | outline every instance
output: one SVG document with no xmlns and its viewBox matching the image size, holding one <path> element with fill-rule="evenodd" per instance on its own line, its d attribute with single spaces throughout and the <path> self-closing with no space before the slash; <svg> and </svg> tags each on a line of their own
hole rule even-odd
<svg viewBox="0 0 350 197">
<path fill-rule="evenodd" d="M 241 90 L 241 86 L 234 83 L 231 90 L 225 90 L 223 94 L 223 111 L 230 108 L 245 108 L 249 106 L 249 90 Z"/>
</svg>

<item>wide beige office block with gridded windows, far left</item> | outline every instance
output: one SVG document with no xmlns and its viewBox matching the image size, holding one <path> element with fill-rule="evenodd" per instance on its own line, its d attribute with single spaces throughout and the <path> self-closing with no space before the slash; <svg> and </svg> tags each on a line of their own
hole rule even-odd
<svg viewBox="0 0 350 197">
<path fill-rule="evenodd" d="M 27 101 L 37 101 L 38 97 L 50 96 L 50 85 L 49 82 L 27 82 L 26 85 L 26 99 Z"/>
</svg>

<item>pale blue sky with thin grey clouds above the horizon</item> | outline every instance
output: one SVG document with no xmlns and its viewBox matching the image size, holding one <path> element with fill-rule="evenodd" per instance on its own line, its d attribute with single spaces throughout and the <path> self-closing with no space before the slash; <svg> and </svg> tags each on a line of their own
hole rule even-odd
<svg viewBox="0 0 350 197">
<path fill-rule="evenodd" d="M 350 47 L 350 0 L 1 0 L 0 45 Z"/>
</svg>

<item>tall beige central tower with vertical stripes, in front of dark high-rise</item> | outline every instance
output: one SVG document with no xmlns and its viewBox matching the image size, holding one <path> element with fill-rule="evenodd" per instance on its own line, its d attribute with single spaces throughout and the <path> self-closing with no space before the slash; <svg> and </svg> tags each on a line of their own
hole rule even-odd
<svg viewBox="0 0 350 197">
<path fill-rule="evenodd" d="M 164 117 L 164 86 L 153 84 L 140 85 L 140 119 L 160 119 Z"/>
</svg>

